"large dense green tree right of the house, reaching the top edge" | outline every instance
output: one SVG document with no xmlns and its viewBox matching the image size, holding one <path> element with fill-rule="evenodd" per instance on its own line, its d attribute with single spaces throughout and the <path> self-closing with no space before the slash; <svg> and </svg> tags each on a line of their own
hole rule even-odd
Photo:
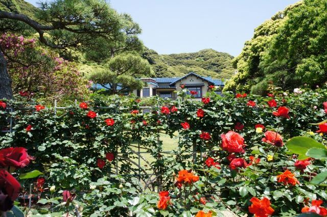
<svg viewBox="0 0 327 217">
<path fill-rule="evenodd" d="M 271 81 L 283 89 L 326 81 L 326 1 L 303 1 L 278 12 L 254 31 L 240 56 L 239 73 L 225 90 L 265 94 Z"/>
</svg>

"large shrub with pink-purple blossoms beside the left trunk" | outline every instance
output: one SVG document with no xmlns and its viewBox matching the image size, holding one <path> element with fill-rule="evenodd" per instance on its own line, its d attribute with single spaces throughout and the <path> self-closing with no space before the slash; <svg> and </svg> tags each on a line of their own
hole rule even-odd
<svg viewBox="0 0 327 217">
<path fill-rule="evenodd" d="M 6 53 L 14 95 L 53 101 L 81 98 L 88 93 L 89 84 L 76 65 L 40 47 L 36 39 L 3 34 L 0 46 Z"/>
</svg>

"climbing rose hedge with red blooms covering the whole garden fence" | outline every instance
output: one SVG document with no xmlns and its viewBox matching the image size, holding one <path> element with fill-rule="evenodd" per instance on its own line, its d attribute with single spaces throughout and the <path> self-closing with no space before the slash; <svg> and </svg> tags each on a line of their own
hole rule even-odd
<svg viewBox="0 0 327 217">
<path fill-rule="evenodd" d="M 44 173 L 42 191 L 36 187 L 34 193 L 41 198 L 33 206 L 37 210 L 29 212 L 203 216 L 203 210 L 211 216 L 229 209 L 294 216 L 309 207 L 324 210 L 320 200 L 327 199 L 326 182 L 311 180 L 326 170 L 326 161 L 317 154 L 307 159 L 303 147 L 298 152 L 287 141 L 301 135 L 322 142 L 314 144 L 320 155 L 325 151 L 327 124 L 310 124 L 326 119 L 325 89 L 273 91 L 269 97 L 208 93 L 201 102 L 185 91 L 178 93 L 185 98 L 180 104 L 159 101 L 149 113 L 140 110 L 142 101 L 104 101 L 97 95 L 56 116 L 41 105 L 0 104 L 5 129 L 6 118 L 15 118 L 14 132 L 1 137 L 1 148 L 26 147 L 36 158 L 26 170 Z M 30 106 L 34 112 L 10 112 L 6 106 Z M 179 142 L 167 154 L 159 132 L 174 136 L 176 131 Z M 141 168 L 134 164 L 137 143 L 151 155 L 145 160 L 153 158 Z"/>
</svg>

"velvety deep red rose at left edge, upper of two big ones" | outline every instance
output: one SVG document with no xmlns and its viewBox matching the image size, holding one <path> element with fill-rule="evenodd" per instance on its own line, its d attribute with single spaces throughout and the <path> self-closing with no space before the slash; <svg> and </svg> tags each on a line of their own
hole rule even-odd
<svg viewBox="0 0 327 217">
<path fill-rule="evenodd" d="M 2 167 L 23 168 L 34 159 L 29 156 L 27 149 L 23 147 L 10 147 L 0 150 L 0 165 Z"/>
</svg>

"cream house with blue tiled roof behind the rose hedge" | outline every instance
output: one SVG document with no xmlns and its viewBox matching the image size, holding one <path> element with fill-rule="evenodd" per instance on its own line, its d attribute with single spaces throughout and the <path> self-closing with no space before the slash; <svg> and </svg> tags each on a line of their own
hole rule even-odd
<svg viewBox="0 0 327 217">
<path fill-rule="evenodd" d="M 209 86 L 216 86 L 215 92 L 221 94 L 221 90 L 224 87 L 224 83 L 220 79 L 213 79 L 212 77 L 200 76 L 194 72 L 191 72 L 183 77 L 158 77 L 158 78 L 141 78 L 143 82 L 147 84 L 142 90 L 130 90 L 125 91 L 124 94 L 128 95 L 133 93 L 138 97 L 151 97 L 158 95 L 162 98 L 176 99 L 176 91 L 181 91 L 181 85 L 184 85 L 185 89 L 190 91 L 196 91 L 197 94 L 194 97 L 201 100 L 209 89 Z M 108 86 L 108 85 L 106 85 Z M 96 89 L 101 89 L 103 86 L 96 85 Z M 110 89 L 110 87 L 106 87 Z M 119 88 L 118 88 L 119 90 Z"/>
</svg>

